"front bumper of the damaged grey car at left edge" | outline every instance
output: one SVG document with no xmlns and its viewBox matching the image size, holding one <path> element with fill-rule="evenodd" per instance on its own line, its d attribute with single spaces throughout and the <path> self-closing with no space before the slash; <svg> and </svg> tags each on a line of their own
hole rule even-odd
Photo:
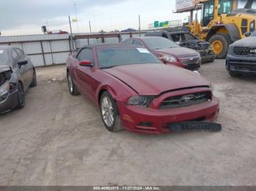
<svg viewBox="0 0 256 191">
<path fill-rule="evenodd" d="M 18 90 L 13 93 L 9 93 L 4 101 L 0 102 L 0 114 L 9 112 L 18 104 Z"/>
</svg>

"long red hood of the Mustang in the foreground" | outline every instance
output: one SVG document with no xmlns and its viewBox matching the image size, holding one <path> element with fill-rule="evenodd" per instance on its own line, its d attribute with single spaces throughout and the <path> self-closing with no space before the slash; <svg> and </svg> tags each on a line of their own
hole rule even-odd
<svg viewBox="0 0 256 191">
<path fill-rule="evenodd" d="M 192 71 L 165 64 L 135 64 L 103 71 L 120 79 L 139 95 L 159 95 L 170 90 L 210 85 Z"/>
</svg>

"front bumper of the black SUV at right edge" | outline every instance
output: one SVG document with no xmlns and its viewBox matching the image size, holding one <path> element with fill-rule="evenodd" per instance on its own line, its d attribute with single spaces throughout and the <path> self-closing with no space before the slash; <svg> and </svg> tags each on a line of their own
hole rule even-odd
<svg viewBox="0 0 256 191">
<path fill-rule="evenodd" d="M 256 74 L 256 56 L 234 56 L 228 54 L 226 69 L 236 74 Z"/>
</svg>

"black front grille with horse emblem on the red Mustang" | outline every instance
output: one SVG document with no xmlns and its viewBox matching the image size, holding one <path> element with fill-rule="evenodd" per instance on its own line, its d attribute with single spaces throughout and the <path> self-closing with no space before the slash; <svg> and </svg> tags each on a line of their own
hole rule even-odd
<svg viewBox="0 0 256 191">
<path fill-rule="evenodd" d="M 211 97 L 211 91 L 173 96 L 162 101 L 160 109 L 177 108 L 182 106 L 201 104 L 206 101 L 211 101 Z"/>
</svg>

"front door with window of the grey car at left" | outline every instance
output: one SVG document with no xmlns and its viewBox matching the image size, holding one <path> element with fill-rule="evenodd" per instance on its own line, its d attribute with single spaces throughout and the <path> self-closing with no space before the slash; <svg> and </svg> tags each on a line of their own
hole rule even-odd
<svg viewBox="0 0 256 191">
<path fill-rule="evenodd" d="M 15 73 L 17 74 L 18 79 L 20 79 L 20 81 L 23 83 L 24 90 L 26 90 L 28 86 L 28 82 L 26 80 L 26 66 L 18 65 L 18 61 L 20 61 L 20 56 L 18 55 L 18 53 L 15 51 L 14 48 L 11 49 L 11 55 L 12 55 L 12 66 L 16 66 Z"/>
</svg>

